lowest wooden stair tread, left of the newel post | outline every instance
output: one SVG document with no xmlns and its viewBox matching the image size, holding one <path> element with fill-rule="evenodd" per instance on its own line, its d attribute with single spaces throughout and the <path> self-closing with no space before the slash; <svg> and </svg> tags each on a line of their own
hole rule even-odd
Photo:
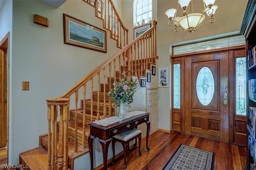
<svg viewBox="0 0 256 170">
<path fill-rule="evenodd" d="M 20 153 L 20 158 L 28 164 L 30 170 L 48 169 L 48 153 L 41 147 Z"/>
</svg>

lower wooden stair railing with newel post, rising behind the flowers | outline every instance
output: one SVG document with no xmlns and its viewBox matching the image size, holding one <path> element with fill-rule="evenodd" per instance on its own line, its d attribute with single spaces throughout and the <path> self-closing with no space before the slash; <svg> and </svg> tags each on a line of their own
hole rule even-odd
<svg viewBox="0 0 256 170">
<path fill-rule="evenodd" d="M 122 71 L 127 78 L 131 76 L 146 76 L 148 65 L 156 59 L 156 21 L 154 25 L 137 39 L 120 49 L 118 53 L 106 60 L 90 74 L 75 84 L 70 90 L 58 98 L 48 98 L 48 151 L 49 168 L 67 167 L 68 124 L 71 112 L 74 113 L 74 151 L 78 149 L 77 123 L 78 113 L 82 113 L 82 146 L 86 147 L 86 126 L 88 123 L 116 115 L 107 92 L 113 87 L 114 80 L 120 80 Z M 80 108 L 78 108 L 80 101 Z M 56 153 L 56 133 L 60 106 L 59 148 Z M 75 109 L 70 109 L 73 107 Z M 70 114 L 68 114 L 70 113 Z M 89 121 L 87 121 L 89 119 Z M 80 120 L 80 119 L 79 119 Z M 52 126 L 50 125 L 52 122 Z M 52 131 L 51 131 L 52 127 Z M 52 135 L 50 135 L 52 133 Z M 52 137 L 50 137 L 52 136 Z M 60 147 L 63 147 L 62 149 Z"/>
</svg>

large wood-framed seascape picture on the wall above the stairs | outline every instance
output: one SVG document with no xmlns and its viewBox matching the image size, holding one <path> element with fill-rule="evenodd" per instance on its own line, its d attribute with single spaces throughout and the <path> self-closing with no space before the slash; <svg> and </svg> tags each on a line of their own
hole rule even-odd
<svg viewBox="0 0 256 170">
<path fill-rule="evenodd" d="M 106 31 L 64 14 L 64 43 L 107 53 Z"/>
</svg>

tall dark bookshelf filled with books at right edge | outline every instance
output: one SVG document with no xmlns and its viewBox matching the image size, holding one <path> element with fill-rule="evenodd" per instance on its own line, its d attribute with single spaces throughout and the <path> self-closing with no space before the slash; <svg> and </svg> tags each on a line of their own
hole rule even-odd
<svg viewBox="0 0 256 170">
<path fill-rule="evenodd" d="M 246 40 L 247 53 L 247 146 L 245 170 L 256 170 L 256 1 L 249 0 L 240 33 Z"/>
</svg>

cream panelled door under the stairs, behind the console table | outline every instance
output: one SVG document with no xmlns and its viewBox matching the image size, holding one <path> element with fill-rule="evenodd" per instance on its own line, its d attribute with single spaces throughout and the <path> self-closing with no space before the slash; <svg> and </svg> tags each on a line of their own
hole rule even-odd
<svg viewBox="0 0 256 170">
<path fill-rule="evenodd" d="M 147 112 L 150 113 L 149 135 L 158 130 L 158 88 L 147 88 Z"/>
</svg>

